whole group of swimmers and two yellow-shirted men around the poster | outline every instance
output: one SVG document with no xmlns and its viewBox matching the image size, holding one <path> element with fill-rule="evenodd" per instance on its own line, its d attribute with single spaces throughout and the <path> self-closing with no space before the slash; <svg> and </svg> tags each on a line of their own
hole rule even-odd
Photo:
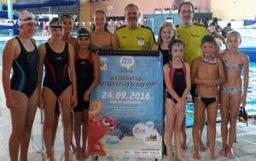
<svg viewBox="0 0 256 161">
<path fill-rule="evenodd" d="M 166 115 L 163 132 L 168 161 L 172 161 L 173 133 L 176 158 L 185 160 L 181 149 L 187 148 L 185 108 L 189 92 L 195 102 L 193 157 L 200 159 L 200 151 L 206 151 L 201 135 L 207 122 L 210 157 L 217 158 L 214 149 L 219 102 L 223 138 L 219 155 L 231 157 L 237 112 L 240 105 L 246 105 L 248 57 L 239 51 L 241 35 L 235 31 L 227 34 L 229 49 L 219 54 L 218 43 L 207 28 L 192 23 L 194 12 L 192 3 L 182 3 L 178 8 L 181 23 L 177 26 L 171 22 L 163 23 L 157 43 L 151 29 L 138 24 L 139 9 L 133 3 L 125 7 L 126 25 L 114 33 L 108 32 L 105 12 L 96 10 L 92 16 L 92 31 L 81 28 L 77 38 L 71 37 L 73 20 L 63 14 L 49 21 L 49 40 L 38 48 L 32 38 L 37 32 L 35 16 L 27 11 L 21 12 L 20 34 L 11 38 L 3 50 L 3 89 L 12 119 L 9 138 L 11 160 L 18 160 L 19 152 L 20 160 L 27 160 L 37 107 L 44 109 L 43 135 L 48 160 L 55 160 L 52 149 L 60 113 L 65 160 L 69 160 L 70 147 L 75 149 L 77 159 L 87 157 L 90 93 L 100 81 L 97 51 L 117 49 L 158 50 L 163 55 L 163 117 Z M 76 148 L 72 142 L 73 134 Z"/>
</svg>

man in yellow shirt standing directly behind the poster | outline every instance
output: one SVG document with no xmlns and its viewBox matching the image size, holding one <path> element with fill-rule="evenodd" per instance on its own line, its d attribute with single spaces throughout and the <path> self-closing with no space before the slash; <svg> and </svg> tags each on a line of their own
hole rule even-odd
<svg viewBox="0 0 256 161">
<path fill-rule="evenodd" d="M 140 26 L 140 13 L 137 5 L 130 3 L 125 7 L 126 26 L 118 28 L 115 33 L 121 50 L 148 50 L 155 44 L 154 33 L 147 26 Z"/>
</svg>

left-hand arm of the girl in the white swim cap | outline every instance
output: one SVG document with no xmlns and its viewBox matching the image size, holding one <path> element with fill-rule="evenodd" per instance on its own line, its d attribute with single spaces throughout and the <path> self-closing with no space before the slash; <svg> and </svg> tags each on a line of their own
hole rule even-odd
<svg viewBox="0 0 256 161">
<path fill-rule="evenodd" d="M 10 89 L 10 71 L 15 60 L 15 49 L 17 49 L 17 45 L 15 44 L 15 39 L 10 39 L 3 49 L 3 91 L 6 99 L 6 106 L 9 108 L 15 108 L 15 100 L 13 95 L 11 95 Z"/>
</svg>

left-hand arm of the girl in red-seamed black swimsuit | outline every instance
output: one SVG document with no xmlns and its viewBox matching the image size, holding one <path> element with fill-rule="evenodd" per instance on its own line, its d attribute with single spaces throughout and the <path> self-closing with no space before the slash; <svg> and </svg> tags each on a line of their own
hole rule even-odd
<svg viewBox="0 0 256 161">
<path fill-rule="evenodd" d="M 39 60 L 38 60 L 38 107 L 44 108 L 44 98 L 42 96 L 42 79 L 43 79 L 43 67 L 44 57 L 46 55 L 45 43 L 41 44 L 38 48 Z"/>
</svg>

